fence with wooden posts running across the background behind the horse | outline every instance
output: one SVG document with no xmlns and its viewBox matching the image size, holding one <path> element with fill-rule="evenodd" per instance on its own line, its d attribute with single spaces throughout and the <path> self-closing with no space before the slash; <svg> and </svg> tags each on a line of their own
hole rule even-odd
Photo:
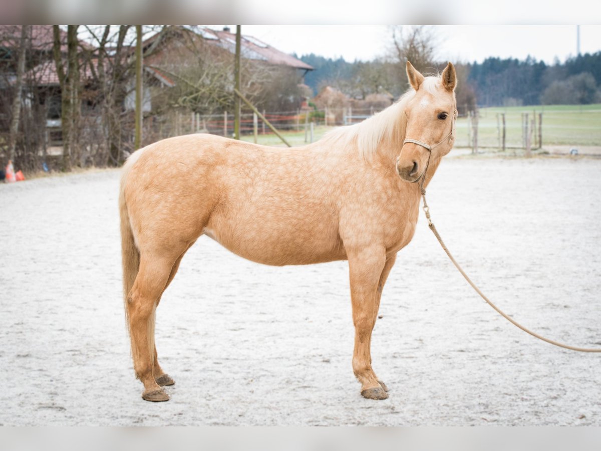
<svg viewBox="0 0 601 451">
<path fill-rule="evenodd" d="M 380 110 L 374 108 L 325 108 L 263 111 L 262 114 L 277 130 L 301 135 L 304 132 L 304 140 L 301 138 L 299 142 L 310 143 L 318 140 L 331 127 L 358 123 L 378 111 Z M 125 129 L 133 130 L 133 117 L 123 117 L 122 121 Z M 128 121 L 132 124 L 125 124 Z M 311 124 L 316 127 L 315 135 Z M 102 132 L 102 127 L 97 121 L 87 121 L 82 125 L 82 133 L 90 137 Z M 545 147 L 553 146 L 564 146 L 566 150 L 578 146 L 601 148 L 601 105 L 481 108 L 474 114 L 457 118 L 456 128 L 455 147 L 468 147 L 472 152 L 478 152 L 479 149 L 510 152 L 517 149 L 545 150 Z M 252 113 L 243 113 L 240 120 L 242 137 L 252 137 L 255 129 L 258 142 L 269 145 L 280 143 L 279 140 L 270 141 L 273 132 L 260 117 L 255 118 Z M 58 159 L 62 150 L 59 125 L 49 127 L 46 131 L 49 139 L 44 146 L 44 159 L 46 147 L 50 146 L 58 146 L 54 147 L 57 152 L 55 157 Z M 189 133 L 212 133 L 231 138 L 234 134 L 234 115 L 225 111 L 219 114 L 198 114 L 173 109 L 163 115 L 144 118 L 145 145 Z M 261 138 L 262 135 L 265 137 Z M 96 141 L 102 140 L 87 140 L 88 143 Z M 133 135 L 124 137 L 120 144 L 125 152 L 133 152 Z M 82 158 L 99 164 L 96 157 L 101 153 L 93 146 L 87 146 Z"/>
</svg>

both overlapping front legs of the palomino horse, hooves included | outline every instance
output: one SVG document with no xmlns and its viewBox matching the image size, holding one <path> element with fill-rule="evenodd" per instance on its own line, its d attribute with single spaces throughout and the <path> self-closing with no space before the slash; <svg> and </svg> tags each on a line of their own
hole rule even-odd
<svg viewBox="0 0 601 451">
<path fill-rule="evenodd" d="M 361 394 L 369 399 L 386 399 L 385 386 L 371 368 L 371 331 L 376 324 L 386 251 L 383 247 L 347 250 L 350 271 L 350 297 L 355 324 L 353 372 L 361 382 Z M 391 263 L 394 263 L 392 260 Z M 392 264 L 389 266 L 392 267 Z M 388 268 L 389 271 L 389 268 Z M 386 274 L 388 275 L 388 274 Z"/>
</svg>

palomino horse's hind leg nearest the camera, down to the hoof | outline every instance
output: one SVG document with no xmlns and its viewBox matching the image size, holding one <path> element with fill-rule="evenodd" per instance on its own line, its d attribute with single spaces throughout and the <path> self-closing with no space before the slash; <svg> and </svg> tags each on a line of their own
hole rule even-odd
<svg viewBox="0 0 601 451">
<path fill-rule="evenodd" d="M 127 296 L 129 331 L 132 339 L 133 367 L 144 384 L 142 397 L 166 401 L 169 396 L 154 379 L 154 314 L 156 304 L 171 274 L 174 259 L 142 254 L 132 290 Z"/>
</svg>

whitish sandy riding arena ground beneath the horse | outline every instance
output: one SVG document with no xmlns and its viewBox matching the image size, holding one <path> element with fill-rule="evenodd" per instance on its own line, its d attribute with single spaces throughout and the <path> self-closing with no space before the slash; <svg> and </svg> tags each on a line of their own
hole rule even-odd
<svg viewBox="0 0 601 451">
<path fill-rule="evenodd" d="M 535 340 L 472 292 L 420 217 L 383 293 L 363 399 L 347 263 L 273 268 L 207 237 L 157 312 L 176 384 L 133 376 L 118 171 L 0 185 L 1 425 L 601 425 L 601 354 Z M 447 159 L 433 219 L 517 321 L 601 348 L 601 160 Z"/>
</svg>

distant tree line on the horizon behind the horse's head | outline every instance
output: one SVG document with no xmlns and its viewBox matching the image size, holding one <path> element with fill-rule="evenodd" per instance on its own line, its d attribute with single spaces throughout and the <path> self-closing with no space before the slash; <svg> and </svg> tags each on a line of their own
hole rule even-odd
<svg viewBox="0 0 601 451">
<path fill-rule="evenodd" d="M 422 46 L 426 48 L 427 46 Z M 423 73 L 436 73 L 446 61 L 433 54 L 415 52 L 416 68 Z M 398 97 L 409 88 L 404 74 L 404 58 L 375 58 L 371 61 L 345 61 L 316 54 L 299 57 L 316 70 L 305 78 L 316 93 L 330 85 L 355 97 L 389 92 Z M 411 60 L 413 63 L 413 60 Z M 525 60 L 490 57 L 481 63 L 453 63 L 460 76 L 457 104 L 460 112 L 478 106 L 557 105 L 601 102 L 601 52 L 570 57 L 563 63 L 549 65 L 532 57 Z"/>
</svg>

